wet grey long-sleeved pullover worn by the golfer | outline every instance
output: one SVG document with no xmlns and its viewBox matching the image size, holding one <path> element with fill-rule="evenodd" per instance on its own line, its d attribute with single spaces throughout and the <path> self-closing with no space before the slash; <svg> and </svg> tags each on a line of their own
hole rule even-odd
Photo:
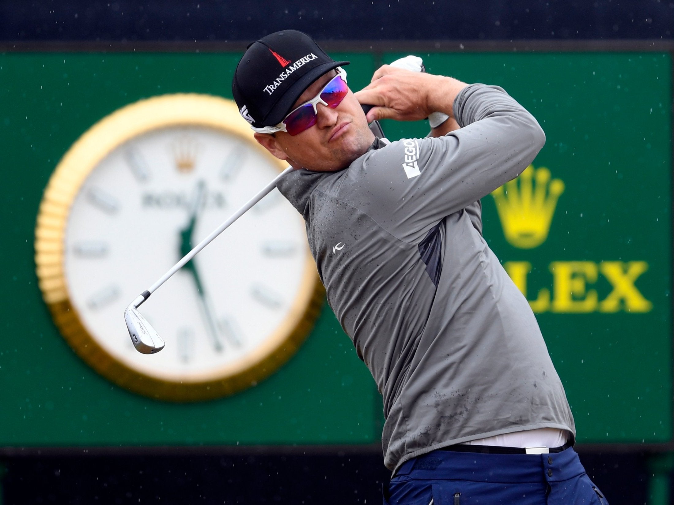
<svg viewBox="0 0 674 505">
<path fill-rule="evenodd" d="M 575 434 L 541 331 L 482 236 L 480 199 L 545 143 L 497 86 L 454 102 L 461 129 L 375 140 L 338 172 L 278 184 L 299 210 L 328 303 L 384 398 L 384 462 L 503 433 Z"/>
</svg>

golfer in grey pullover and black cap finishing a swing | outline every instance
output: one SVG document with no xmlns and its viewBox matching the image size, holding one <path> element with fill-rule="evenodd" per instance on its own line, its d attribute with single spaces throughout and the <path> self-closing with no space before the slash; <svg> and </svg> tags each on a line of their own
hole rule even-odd
<svg viewBox="0 0 674 505">
<path fill-rule="evenodd" d="M 257 141 L 297 169 L 278 188 L 384 398 L 384 503 L 607 503 L 536 318 L 482 236 L 480 199 L 543 130 L 497 86 L 384 65 L 353 93 L 346 65 L 284 30 L 249 45 L 232 87 Z M 368 127 L 429 116 L 421 139 Z"/>
</svg>

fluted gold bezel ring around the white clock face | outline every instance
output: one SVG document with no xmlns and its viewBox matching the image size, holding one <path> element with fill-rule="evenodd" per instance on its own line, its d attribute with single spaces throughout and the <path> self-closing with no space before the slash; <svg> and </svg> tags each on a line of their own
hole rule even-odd
<svg viewBox="0 0 674 505">
<path fill-rule="evenodd" d="M 307 255 L 299 294 L 272 336 L 242 360 L 191 382 L 184 378 L 174 382 L 139 372 L 99 345 L 73 306 L 65 279 L 64 243 L 71 205 L 89 174 L 114 149 L 138 135 L 177 126 L 206 127 L 236 135 L 279 171 L 286 166 L 255 141 L 232 100 L 204 94 L 170 94 L 129 104 L 88 129 L 55 168 L 40 202 L 35 264 L 42 298 L 61 335 L 96 372 L 125 389 L 154 399 L 203 401 L 233 395 L 278 370 L 313 328 L 325 292 L 313 259 Z"/>
</svg>

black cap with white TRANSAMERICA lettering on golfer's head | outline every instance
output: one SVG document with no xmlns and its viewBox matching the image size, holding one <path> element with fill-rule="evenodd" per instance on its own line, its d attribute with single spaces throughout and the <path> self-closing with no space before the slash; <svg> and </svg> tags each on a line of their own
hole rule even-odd
<svg viewBox="0 0 674 505">
<path fill-rule="evenodd" d="M 234 73 L 234 100 L 253 127 L 278 125 L 313 81 L 348 63 L 334 61 L 303 32 L 275 32 L 249 44 Z"/>
</svg>

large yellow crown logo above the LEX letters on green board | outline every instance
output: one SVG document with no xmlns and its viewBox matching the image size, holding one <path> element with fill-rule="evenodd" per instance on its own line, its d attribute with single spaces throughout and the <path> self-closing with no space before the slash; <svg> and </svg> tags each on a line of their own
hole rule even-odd
<svg viewBox="0 0 674 505">
<path fill-rule="evenodd" d="M 551 180 L 550 170 L 536 170 L 532 165 L 518 178 L 492 191 L 505 240 L 520 249 L 543 244 L 563 192 L 561 179 Z"/>
</svg>

